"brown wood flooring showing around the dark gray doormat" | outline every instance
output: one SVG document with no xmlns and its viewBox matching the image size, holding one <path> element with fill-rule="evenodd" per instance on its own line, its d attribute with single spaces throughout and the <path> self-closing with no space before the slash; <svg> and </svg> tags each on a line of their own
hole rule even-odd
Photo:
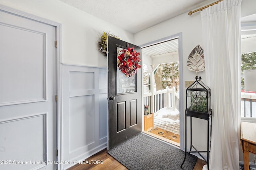
<svg viewBox="0 0 256 170">
<path fill-rule="evenodd" d="M 127 170 L 125 166 L 110 156 L 107 151 L 107 149 L 104 149 L 86 159 L 83 162 L 84 164 L 76 164 L 68 168 L 68 170 Z M 205 161 L 198 158 L 193 170 L 202 170 L 205 164 Z"/>
</svg>

